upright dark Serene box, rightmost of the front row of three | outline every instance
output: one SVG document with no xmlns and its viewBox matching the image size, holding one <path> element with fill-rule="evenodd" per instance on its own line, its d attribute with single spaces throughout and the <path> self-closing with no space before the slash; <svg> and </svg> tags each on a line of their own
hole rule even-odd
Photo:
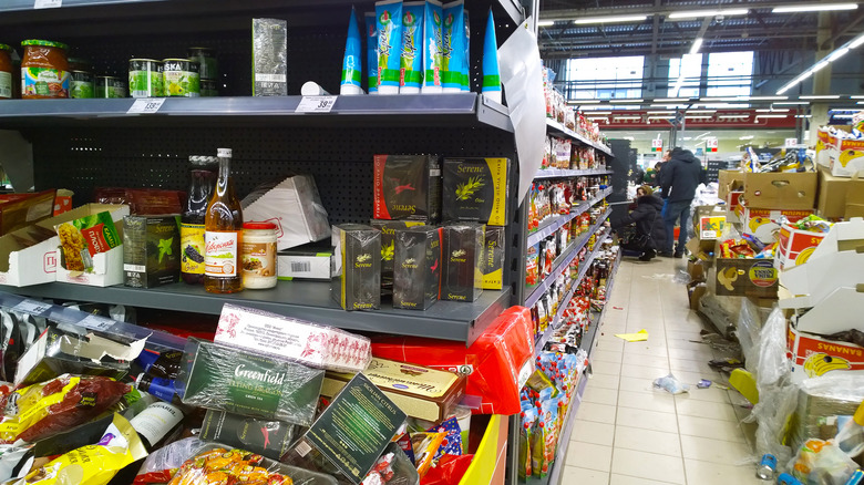
<svg viewBox="0 0 864 485">
<path fill-rule="evenodd" d="M 444 227 L 443 234 L 441 299 L 474 301 L 483 292 L 481 257 L 485 228 L 481 224 L 464 223 Z"/>
</svg>

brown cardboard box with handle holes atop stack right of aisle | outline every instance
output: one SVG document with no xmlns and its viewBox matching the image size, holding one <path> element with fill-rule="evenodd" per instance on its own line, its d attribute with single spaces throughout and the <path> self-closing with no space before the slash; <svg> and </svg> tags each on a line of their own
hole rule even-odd
<svg viewBox="0 0 864 485">
<path fill-rule="evenodd" d="M 817 176 L 813 172 L 744 174 L 744 200 L 762 209 L 812 209 Z"/>
</svg>

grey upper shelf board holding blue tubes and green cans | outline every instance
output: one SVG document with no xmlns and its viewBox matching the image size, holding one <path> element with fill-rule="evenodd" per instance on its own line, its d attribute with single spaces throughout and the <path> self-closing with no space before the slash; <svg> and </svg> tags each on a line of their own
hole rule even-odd
<svg viewBox="0 0 864 485">
<path fill-rule="evenodd" d="M 267 125 L 492 126 L 513 132 L 506 107 L 476 93 L 338 96 L 329 113 L 297 113 L 302 96 L 167 97 L 156 113 L 128 114 L 135 100 L 9 100 L 0 126 Z"/>
</svg>

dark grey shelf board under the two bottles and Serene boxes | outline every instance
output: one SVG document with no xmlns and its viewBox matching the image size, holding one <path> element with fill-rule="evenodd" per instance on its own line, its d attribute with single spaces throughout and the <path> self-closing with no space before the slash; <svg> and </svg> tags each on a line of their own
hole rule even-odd
<svg viewBox="0 0 864 485">
<path fill-rule="evenodd" d="M 426 311 L 395 310 L 390 303 L 382 303 L 381 310 L 344 311 L 330 297 L 330 283 L 326 281 L 279 281 L 274 289 L 235 295 L 213 295 L 200 286 L 185 283 L 138 289 L 54 282 L 23 288 L 3 286 L 0 289 L 29 297 L 209 314 L 219 314 L 223 303 L 235 303 L 346 330 L 429 337 L 466 344 L 474 342 L 511 303 L 511 291 L 505 289 L 486 290 L 473 303 L 439 301 Z"/>
</svg>

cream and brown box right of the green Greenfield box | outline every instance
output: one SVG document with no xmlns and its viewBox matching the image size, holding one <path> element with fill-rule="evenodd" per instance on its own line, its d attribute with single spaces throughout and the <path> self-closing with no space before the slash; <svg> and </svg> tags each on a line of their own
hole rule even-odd
<svg viewBox="0 0 864 485">
<path fill-rule="evenodd" d="M 363 375 L 405 414 L 438 422 L 453 414 L 465 393 L 465 378 L 422 365 L 372 358 Z M 321 395 L 332 398 L 353 378 L 327 372 Z"/>
</svg>

